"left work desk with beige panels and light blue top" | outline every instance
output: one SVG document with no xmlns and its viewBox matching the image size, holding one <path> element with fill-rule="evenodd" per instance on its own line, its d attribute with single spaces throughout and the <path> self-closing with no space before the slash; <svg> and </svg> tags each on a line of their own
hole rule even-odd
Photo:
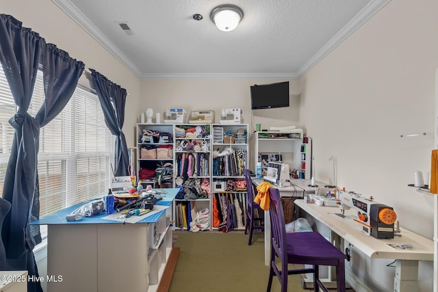
<svg viewBox="0 0 438 292">
<path fill-rule="evenodd" d="M 47 275 L 62 276 L 62 282 L 47 282 L 47 290 L 156 291 L 172 249 L 168 218 L 179 189 L 160 190 L 157 204 L 170 208 L 136 224 L 104 220 L 105 213 L 66 221 L 83 203 L 31 222 L 48 225 Z"/>
</svg>

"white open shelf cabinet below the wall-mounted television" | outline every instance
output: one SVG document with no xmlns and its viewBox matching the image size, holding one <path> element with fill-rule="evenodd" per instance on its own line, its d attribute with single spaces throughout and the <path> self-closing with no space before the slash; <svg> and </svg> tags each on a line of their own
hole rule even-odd
<svg viewBox="0 0 438 292">
<path fill-rule="evenodd" d="M 264 167 L 269 161 L 281 160 L 289 170 L 301 172 L 302 178 L 311 178 L 311 139 L 304 137 L 302 129 L 256 132 L 254 152 L 254 172 L 257 161 L 264 162 Z"/>
</svg>

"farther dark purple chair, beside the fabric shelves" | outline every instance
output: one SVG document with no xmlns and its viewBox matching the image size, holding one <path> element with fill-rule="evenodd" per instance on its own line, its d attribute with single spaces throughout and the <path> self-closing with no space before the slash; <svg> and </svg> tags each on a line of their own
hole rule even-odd
<svg viewBox="0 0 438 292">
<path fill-rule="evenodd" d="M 249 231 L 248 245 L 253 243 L 253 231 L 254 230 L 265 230 L 263 226 L 263 217 L 256 217 L 255 210 L 258 209 L 260 214 L 262 214 L 263 209 L 260 208 L 259 204 L 254 202 L 254 187 L 253 181 L 249 170 L 244 170 L 245 181 L 246 181 L 246 192 L 248 193 L 248 203 L 246 204 L 246 222 L 245 222 L 245 234 Z M 259 224 L 256 224 L 259 222 Z"/>
</svg>

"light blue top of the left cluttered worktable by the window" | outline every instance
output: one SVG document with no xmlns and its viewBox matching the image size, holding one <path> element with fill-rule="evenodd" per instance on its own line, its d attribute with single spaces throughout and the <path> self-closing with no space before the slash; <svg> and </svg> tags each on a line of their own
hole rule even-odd
<svg viewBox="0 0 438 292">
<path fill-rule="evenodd" d="M 179 189 L 154 189 L 155 191 L 162 191 L 163 200 L 159 200 L 156 204 L 162 206 L 171 206 L 173 200 L 175 200 L 175 196 L 177 196 Z M 88 201 L 90 202 L 90 201 Z M 79 204 L 75 204 L 74 206 L 68 207 L 66 209 L 62 209 L 53 213 L 51 215 L 47 215 L 46 217 L 42 217 L 39 220 L 35 220 L 30 222 L 29 225 L 54 225 L 54 224 L 123 224 L 123 222 L 106 220 L 102 219 L 107 215 L 107 213 L 102 212 L 99 215 L 94 215 L 92 217 L 83 217 L 82 220 L 77 221 L 67 221 L 66 215 L 75 211 L 75 209 L 81 207 L 83 204 L 87 202 L 81 202 Z M 155 223 L 159 220 L 159 217 L 166 212 L 166 210 L 159 211 L 153 215 L 145 217 L 137 223 Z"/>
</svg>

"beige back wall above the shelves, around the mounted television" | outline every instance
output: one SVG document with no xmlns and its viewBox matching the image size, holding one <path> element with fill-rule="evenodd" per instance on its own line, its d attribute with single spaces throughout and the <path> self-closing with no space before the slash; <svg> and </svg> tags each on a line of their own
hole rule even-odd
<svg viewBox="0 0 438 292">
<path fill-rule="evenodd" d="M 256 109 L 251 111 L 250 86 L 254 84 L 289 81 L 289 107 L 276 109 Z M 216 112 L 216 123 L 220 121 L 222 109 L 240 108 L 243 122 L 249 124 L 250 132 L 255 124 L 261 129 L 300 124 L 300 86 L 298 80 L 273 79 L 200 79 L 200 80 L 144 80 L 142 81 L 141 110 L 152 107 L 154 112 L 162 113 L 168 108 L 184 108 L 185 122 L 192 110 L 212 109 Z M 252 130 L 252 131 L 251 131 Z M 250 139 L 252 133 L 250 133 Z M 253 155 L 250 155 L 253 168 Z M 255 170 L 255 169 L 254 169 Z"/>
</svg>

